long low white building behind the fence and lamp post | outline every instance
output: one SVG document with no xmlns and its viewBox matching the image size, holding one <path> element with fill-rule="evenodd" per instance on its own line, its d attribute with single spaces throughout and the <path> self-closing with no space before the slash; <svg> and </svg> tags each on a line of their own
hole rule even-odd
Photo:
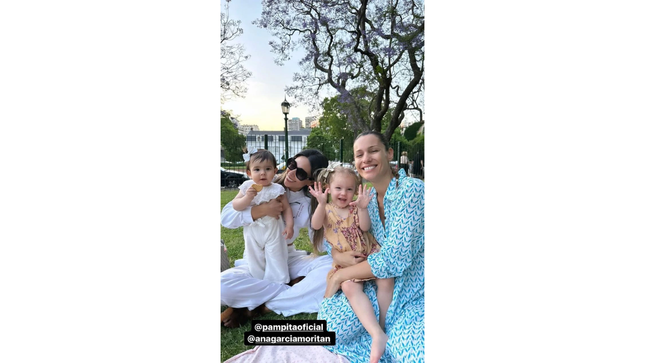
<svg viewBox="0 0 645 363">
<path fill-rule="evenodd" d="M 307 138 L 311 130 L 289 131 L 289 157 L 306 149 Z M 268 150 L 275 156 L 277 163 L 281 163 L 284 155 L 284 131 L 249 131 L 246 134 L 246 148 L 248 150 L 264 149 L 264 135 L 267 136 Z"/>
</svg>

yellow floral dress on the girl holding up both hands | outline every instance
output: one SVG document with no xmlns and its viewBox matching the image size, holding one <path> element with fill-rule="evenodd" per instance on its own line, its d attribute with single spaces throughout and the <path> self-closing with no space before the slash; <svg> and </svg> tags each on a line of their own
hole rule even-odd
<svg viewBox="0 0 645 363">
<path fill-rule="evenodd" d="M 324 239 L 332 246 L 341 252 L 356 251 L 369 256 L 372 253 L 377 253 L 381 250 L 372 233 L 362 231 L 359 226 L 358 208 L 350 205 L 350 213 L 347 218 L 342 218 L 338 215 L 335 205 L 327 203 L 325 211 L 327 213 L 327 225 L 324 226 Z M 342 267 L 333 264 L 333 269 L 329 271 L 327 279 Z M 367 281 L 373 280 L 372 278 L 352 278 L 348 281 Z"/>
</svg>

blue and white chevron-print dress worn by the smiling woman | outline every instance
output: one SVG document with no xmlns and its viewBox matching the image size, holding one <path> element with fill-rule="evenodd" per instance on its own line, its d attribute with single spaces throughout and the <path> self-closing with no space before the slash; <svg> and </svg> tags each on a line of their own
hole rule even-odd
<svg viewBox="0 0 645 363">
<path fill-rule="evenodd" d="M 385 319 L 388 344 L 379 363 L 425 362 L 425 183 L 399 171 L 399 187 L 396 178 L 392 178 L 383 205 L 385 229 L 379 218 L 377 198 L 372 198 L 368 206 L 372 220 L 370 231 L 381 244 L 379 253 L 368 256 L 368 264 L 377 278 L 395 277 L 392 304 Z M 327 249 L 331 254 L 329 246 Z M 372 301 L 378 319 L 376 288 L 373 281 L 368 281 L 364 283 L 363 291 Z M 342 291 L 323 299 L 318 318 L 326 320 L 328 331 L 336 333 L 336 345 L 325 346 L 327 349 L 344 355 L 350 362 L 369 362 L 372 337 L 359 322 Z"/>
</svg>

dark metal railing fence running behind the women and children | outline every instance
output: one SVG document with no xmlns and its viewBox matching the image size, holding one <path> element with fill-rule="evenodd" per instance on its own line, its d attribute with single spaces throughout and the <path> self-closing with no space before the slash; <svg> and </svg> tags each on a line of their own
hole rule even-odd
<svg viewBox="0 0 645 363">
<path fill-rule="evenodd" d="M 290 139 L 292 139 L 291 136 Z M 247 147 L 250 150 L 253 148 L 269 150 L 277 161 L 278 173 L 281 173 L 286 168 L 286 158 L 292 158 L 302 150 L 312 148 L 308 143 L 293 138 L 288 142 L 288 152 L 284 153 L 284 140 L 275 140 L 270 135 L 263 136 L 257 142 L 248 142 Z M 394 150 L 391 164 L 395 170 L 405 169 L 408 176 L 425 179 L 426 155 L 424 145 L 417 145 L 416 147 L 408 145 L 405 147 L 399 142 L 397 145 L 390 145 L 390 147 Z M 339 140 L 335 144 L 316 145 L 314 149 L 323 152 L 330 161 L 339 161 L 344 167 L 355 169 L 353 166 L 353 140 Z M 243 162 L 232 163 L 221 160 L 222 158 L 219 164 L 221 189 L 237 189 L 241 183 L 249 180 L 248 176 L 246 176 L 246 165 Z"/>
</svg>

